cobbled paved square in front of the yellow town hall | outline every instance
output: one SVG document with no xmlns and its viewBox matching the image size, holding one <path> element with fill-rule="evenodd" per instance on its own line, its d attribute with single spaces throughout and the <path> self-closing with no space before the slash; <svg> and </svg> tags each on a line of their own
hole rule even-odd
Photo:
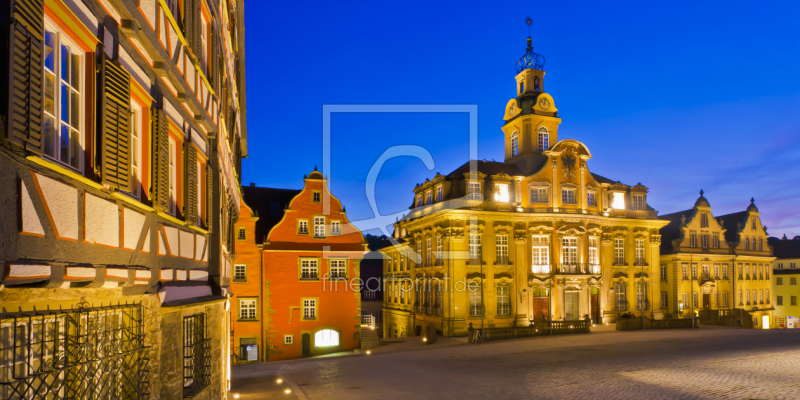
<svg viewBox="0 0 800 400">
<path fill-rule="evenodd" d="M 800 399 L 800 329 L 611 331 L 398 348 L 239 366 L 232 387 L 242 400 Z M 286 382 L 275 385 L 277 376 Z"/>
</svg>

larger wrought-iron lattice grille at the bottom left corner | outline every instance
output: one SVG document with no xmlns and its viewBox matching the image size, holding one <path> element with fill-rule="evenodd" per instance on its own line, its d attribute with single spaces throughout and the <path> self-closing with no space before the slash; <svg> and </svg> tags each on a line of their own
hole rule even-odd
<svg viewBox="0 0 800 400">
<path fill-rule="evenodd" d="M 0 313 L 0 399 L 150 397 L 141 304 Z"/>
</svg>

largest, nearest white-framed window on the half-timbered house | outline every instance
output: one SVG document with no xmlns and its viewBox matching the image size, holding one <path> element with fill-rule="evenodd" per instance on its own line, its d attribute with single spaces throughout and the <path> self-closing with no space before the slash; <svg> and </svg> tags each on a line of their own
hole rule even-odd
<svg viewBox="0 0 800 400">
<path fill-rule="evenodd" d="M 44 154 L 81 170 L 85 54 L 55 23 L 45 19 L 44 120 L 41 121 Z"/>
</svg>

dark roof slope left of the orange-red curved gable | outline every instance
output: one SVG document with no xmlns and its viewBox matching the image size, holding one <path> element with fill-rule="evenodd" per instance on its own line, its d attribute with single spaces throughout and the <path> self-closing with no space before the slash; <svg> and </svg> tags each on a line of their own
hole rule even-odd
<svg viewBox="0 0 800 400">
<path fill-rule="evenodd" d="M 264 243 L 269 231 L 283 218 L 289 202 L 300 194 L 300 189 L 275 189 L 242 186 L 244 202 L 258 214 L 256 244 Z"/>
</svg>

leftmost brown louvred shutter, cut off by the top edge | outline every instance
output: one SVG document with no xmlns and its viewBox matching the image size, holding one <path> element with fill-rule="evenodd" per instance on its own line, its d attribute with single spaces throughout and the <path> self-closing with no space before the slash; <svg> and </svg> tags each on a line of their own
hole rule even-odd
<svg viewBox="0 0 800 400">
<path fill-rule="evenodd" d="M 11 0 L 11 12 L 6 134 L 12 144 L 42 155 L 44 0 Z"/>
</svg>

